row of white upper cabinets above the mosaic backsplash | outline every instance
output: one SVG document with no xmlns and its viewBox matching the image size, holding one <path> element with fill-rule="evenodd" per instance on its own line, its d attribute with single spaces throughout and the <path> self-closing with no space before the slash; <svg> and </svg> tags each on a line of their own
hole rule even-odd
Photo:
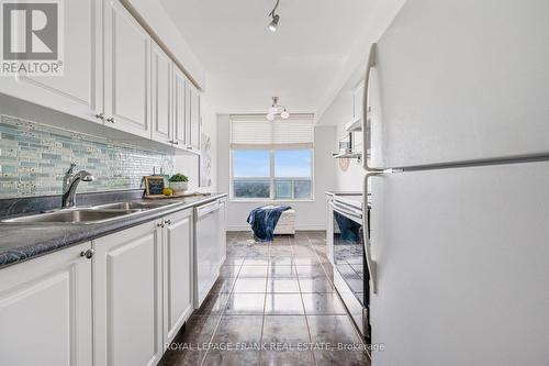
<svg viewBox="0 0 549 366">
<path fill-rule="evenodd" d="M 124 5 L 65 1 L 64 14 L 64 75 L 1 77 L 0 93 L 199 153 L 199 90 Z"/>
</svg>

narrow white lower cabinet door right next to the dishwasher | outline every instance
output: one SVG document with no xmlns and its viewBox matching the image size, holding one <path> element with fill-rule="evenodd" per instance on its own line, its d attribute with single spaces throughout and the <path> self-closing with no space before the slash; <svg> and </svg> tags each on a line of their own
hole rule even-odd
<svg viewBox="0 0 549 366">
<path fill-rule="evenodd" d="M 165 220 L 164 343 L 173 340 L 192 308 L 192 210 Z"/>
</svg>

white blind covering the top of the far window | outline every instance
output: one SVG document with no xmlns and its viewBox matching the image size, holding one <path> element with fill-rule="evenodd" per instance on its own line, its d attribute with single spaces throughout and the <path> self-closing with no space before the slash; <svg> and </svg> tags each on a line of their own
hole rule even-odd
<svg viewBox="0 0 549 366">
<path fill-rule="evenodd" d="M 312 114 L 268 121 L 265 115 L 231 115 L 231 148 L 312 148 Z"/>
</svg>

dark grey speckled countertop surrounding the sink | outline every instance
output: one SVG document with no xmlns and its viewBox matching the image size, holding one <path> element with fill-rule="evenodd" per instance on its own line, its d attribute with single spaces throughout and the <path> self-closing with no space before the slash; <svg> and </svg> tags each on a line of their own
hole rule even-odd
<svg viewBox="0 0 549 366">
<path fill-rule="evenodd" d="M 226 193 L 212 193 L 183 199 L 166 199 L 163 201 L 173 204 L 94 224 L 0 223 L 0 268 L 112 234 L 172 212 L 208 203 L 225 196 Z"/>
</svg>

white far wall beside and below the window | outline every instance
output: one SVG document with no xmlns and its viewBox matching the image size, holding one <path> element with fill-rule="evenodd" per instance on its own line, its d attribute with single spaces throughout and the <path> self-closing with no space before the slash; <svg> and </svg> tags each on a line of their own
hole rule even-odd
<svg viewBox="0 0 549 366">
<path fill-rule="evenodd" d="M 326 207 L 324 192 L 334 189 L 335 162 L 332 158 L 334 151 L 334 126 L 315 127 L 314 133 L 314 200 L 312 201 L 277 201 L 295 209 L 295 228 L 298 230 L 325 230 Z M 221 192 L 229 192 L 229 115 L 217 115 L 217 187 Z M 227 203 L 227 230 L 249 230 L 246 218 L 251 209 L 271 204 L 272 201 Z"/>
</svg>

